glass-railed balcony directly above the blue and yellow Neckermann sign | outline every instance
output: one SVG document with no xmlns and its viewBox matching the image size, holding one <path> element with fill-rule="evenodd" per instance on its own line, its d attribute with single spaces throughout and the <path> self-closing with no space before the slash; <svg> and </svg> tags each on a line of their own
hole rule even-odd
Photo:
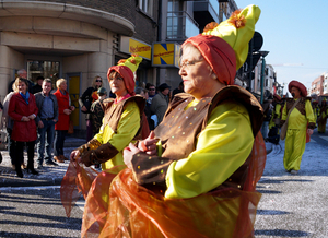
<svg viewBox="0 0 328 238">
<path fill-rule="evenodd" d="M 186 11 L 167 12 L 166 39 L 185 41 L 199 34 L 198 24 Z"/>
</svg>

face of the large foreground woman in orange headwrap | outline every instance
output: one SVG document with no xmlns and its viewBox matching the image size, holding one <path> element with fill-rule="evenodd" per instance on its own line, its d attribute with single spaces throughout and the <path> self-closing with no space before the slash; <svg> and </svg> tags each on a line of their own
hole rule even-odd
<svg viewBox="0 0 328 238">
<path fill-rule="evenodd" d="M 212 95 L 213 81 L 211 69 L 201 53 L 194 46 L 184 47 L 179 74 L 184 90 L 200 99 Z M 215 79 L 216 80 L 216 79 Z"/>
</svg>

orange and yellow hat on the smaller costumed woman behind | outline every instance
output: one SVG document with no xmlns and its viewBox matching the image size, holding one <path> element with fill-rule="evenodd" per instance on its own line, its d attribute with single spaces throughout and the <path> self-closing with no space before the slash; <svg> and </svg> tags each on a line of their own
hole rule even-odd
<svg viewBox="0 0 328 238">
<path fill-rule="evenodd" d="M 128 93 L 133 96 L 136 80 L 134 80 L 134 72 L 137 71 L 139 64 L 141 63 L 142 58 L 138 55 L 132 55 L 128 59 L 119 60 L 117 66 L 110 67 L 107 72 L 107 79 L 109 81 L 109 74 L 113 71 L 119 73 L 119 75 L 124 79 L 125 85 L 127 87 Z"/>
</svg>

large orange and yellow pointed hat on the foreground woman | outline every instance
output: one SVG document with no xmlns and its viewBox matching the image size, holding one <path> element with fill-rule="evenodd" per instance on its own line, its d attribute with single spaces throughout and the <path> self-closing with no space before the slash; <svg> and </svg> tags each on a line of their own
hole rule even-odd
<svg viewBox="0 0 328 238">
<path fill-rule="evenodd" d="M 236 71 L 246 61 L 248 43 L 260 15 L 257 5 L 235 11 L 230 19 L 218 24 L 209 23 L 204 32 L 187 39 L 210 64 L 221 83 L 234 84 Z"/>
</svg>

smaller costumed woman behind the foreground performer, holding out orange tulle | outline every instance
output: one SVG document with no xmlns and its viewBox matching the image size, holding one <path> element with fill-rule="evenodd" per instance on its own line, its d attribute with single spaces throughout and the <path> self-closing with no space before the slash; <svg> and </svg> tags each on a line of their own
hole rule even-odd
<svg viewBox="0 0 328 238">
<path fill-rule="evenodd" d="M 133 74 L 141 61 L 141 57 L 132 55 L 108 69 L 107 79 L 116 98 L 103 100 L 105 114 L 99 132 L 86 144 L 72 151 L 69 168 L 61 182 L 60 195 L 68 216 L 80 192 L 86 197 L 91 182 L 98 174 L 81 164 L 86 167 L 102 164 L 103 170 L 118 166 L 114 172 L 117 174 L 126 167 L 122 150 L 132 140 L 142 139 L 140 126 L 145 99 L 136 96 Z"/>
</svg>

